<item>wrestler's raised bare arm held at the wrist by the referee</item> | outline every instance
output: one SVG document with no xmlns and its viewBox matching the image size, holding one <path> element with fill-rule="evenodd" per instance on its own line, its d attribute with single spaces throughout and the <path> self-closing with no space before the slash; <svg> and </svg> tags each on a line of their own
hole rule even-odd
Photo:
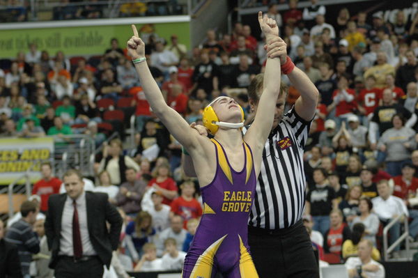
<svg viewBox="0 0 418 278">
<path fill-rule="evenodd" d="M 258 23 L 268 43 L 278 38 L 277 24 L 267 15 L 258 12 Z M 281 40 L 281 38 L 280 38 Z M 286 53 L 286 43 L 281 40 L 281 51 Z M 265 140 L 272 129 L 274 110 L 280 91 L 280 59 L 268 57 L 263 78 L 263 93 L 261 94 L 254 122 L 245 134 L 245 141 L 251 147 L 263 148 Z"/>
</svg>

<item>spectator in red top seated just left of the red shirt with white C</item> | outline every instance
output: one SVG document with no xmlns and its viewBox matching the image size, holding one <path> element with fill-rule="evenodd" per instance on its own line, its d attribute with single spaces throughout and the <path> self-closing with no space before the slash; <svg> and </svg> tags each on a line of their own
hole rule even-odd
<svg viewBox="0 0 418 278">
<path fill-rule="evenodd" d="M 338 88 L 332 93 L 332 104 L 328 106 L 328 111 L 335 107 L 335 116 L 345 118 L 347 114 L 353 113 L 357 108 L 355 103 L 355 91 L 348 88 L 348 77 L 341 75 L 337 84 Z"/>
</svg>

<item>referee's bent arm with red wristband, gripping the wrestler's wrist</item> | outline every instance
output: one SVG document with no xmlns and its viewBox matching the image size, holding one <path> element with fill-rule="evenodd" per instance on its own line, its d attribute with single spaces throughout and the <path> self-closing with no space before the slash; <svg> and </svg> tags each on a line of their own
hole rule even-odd
<svg viewBox="0 0 418 278">
<path fill-rule="evenodd" d="M 281 38 L 274 38 L 268 42 L 267 51 L 268 56 L 280 57 L 281 65 L 287 65 L 292 63 L 290 58 L 286 54 L 282 54 L 278 47 Z M 318 102 L 318 89 L 311 82 L 311 79 L 299 68 L 295 67 L 291 72 L 281 72 L 283 75 L 287 75 L 291 84 L 295 86 L 297 91 L 300 92 L 300 97 L 295 102 L 295 111 L 297 115 L 303 118 L 305 121 L 311 121 L 314 118 L 316 112 L 316 104 Z"/>
</svg>

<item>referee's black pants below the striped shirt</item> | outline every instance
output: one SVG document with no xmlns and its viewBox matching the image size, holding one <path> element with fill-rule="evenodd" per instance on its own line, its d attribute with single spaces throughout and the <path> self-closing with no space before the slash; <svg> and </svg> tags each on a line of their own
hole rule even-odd
<svg viewBox="0 0 418 278">
<path fill-rule="evenodd" d="M 286 229 L 249 226 L 248 244 L 260 278 L 319 278 L 314 249 L 302 220 Z"/>
</svg>

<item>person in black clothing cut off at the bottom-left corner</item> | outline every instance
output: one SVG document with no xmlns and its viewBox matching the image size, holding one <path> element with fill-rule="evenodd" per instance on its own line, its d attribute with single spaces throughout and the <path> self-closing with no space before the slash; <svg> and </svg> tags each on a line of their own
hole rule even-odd
<svg viewBox="0 0 418 278">
<path fill-rule="evenodd" d="M 4 223 L 0 219 L 0 277 L 22 278 L 17 247 L 4 240 Z"/>
</svg>

